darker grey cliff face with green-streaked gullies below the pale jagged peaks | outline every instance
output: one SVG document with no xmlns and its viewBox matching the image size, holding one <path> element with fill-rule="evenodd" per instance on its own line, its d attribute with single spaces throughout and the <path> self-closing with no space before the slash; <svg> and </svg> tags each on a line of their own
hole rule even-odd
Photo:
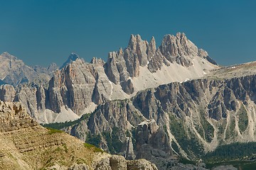
<svg viewBox="0 0 256 170">
<path fill-rule="evenodd" d="M 100 134 L 100 147 L 156 164 L 174 154 L 195 159 L 219 145 L 255 142 L 255 88 L 255 74 L 174 82 L 103 103 L 88 120 L 65 130 L 86 139 L 86 124 L 84 132 Z M 120 142 L 119 148 L 106 134 Z M 133 151 L 127 137 L 132 137 Z"/>
</svg>

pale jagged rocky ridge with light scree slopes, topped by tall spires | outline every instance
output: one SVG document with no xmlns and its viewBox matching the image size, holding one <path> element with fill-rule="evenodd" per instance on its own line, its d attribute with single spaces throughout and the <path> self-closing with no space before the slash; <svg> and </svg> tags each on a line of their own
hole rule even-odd
<svg viewBox="0 0 256 170">
<path fill-rule="evenodd" d="M 159 47 L 154 37 L 147 42 L 140 35 L 131 35 L 128 46 L 110 52 L 107 62 L 97 58 L 85 62 L 72 53 L 50 80 L 31 78 L 17 87 L 9 85 L 14 83 L 1 86 L 0 99 L 20 101 L 39 123 L 64 122 L 94 111 L 101 103 L 131 98 L 138 91 L 161 84 L 203 77 L 217 68 L 208 53 L 184 33 L 165 35 Z M 1 79 L 8 83 L 4 77 Z"/>
</svg>

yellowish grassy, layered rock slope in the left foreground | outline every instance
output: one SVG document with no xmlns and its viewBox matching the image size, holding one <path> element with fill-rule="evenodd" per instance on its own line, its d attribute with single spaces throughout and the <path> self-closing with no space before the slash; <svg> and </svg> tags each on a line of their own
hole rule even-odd
<svg viewBox="0 0 256 170">
<path fill-rule="evenodd" d="M 60 130 L 43 128 L 21 103 L 0 101 L 0 141 L 0 169 L 157 170 L 145 159 L 127 161 Z"/>
</svg>

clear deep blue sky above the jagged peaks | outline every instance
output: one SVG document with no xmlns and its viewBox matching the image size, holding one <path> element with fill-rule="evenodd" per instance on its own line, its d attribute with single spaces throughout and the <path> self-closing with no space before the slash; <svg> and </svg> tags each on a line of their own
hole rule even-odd
<svg viewBox="0 0 256 170">
<path fill-rule="evenodd" d="M 90 62 L 127 47 L 131 34 L 157 45 L 184 32 L 223 65 L 256 60 L 253 0 L 0 0 L 0 53 L 59 66 L 71 52 Z"/>
</svg>

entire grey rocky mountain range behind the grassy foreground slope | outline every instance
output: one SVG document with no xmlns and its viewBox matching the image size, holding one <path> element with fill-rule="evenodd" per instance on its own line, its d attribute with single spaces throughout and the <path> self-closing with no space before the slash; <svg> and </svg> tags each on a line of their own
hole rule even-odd
<svg viewBox="0 0 256 170">
<path fill-rule="evenodd" d="M 107 62 L 72 53 L 60 68 L 46 69 L 6 52 L 0 59 L 1 101 L 20 102 L 36 122 L 125 159 L 205 169 L 201 160 L 213 161 L 223 146 L 256 146 L 256 62 L 220 67 L 184 33 L 165 35 L 159 47 L 154 37 L 131 35 Z"/>
</svg>

